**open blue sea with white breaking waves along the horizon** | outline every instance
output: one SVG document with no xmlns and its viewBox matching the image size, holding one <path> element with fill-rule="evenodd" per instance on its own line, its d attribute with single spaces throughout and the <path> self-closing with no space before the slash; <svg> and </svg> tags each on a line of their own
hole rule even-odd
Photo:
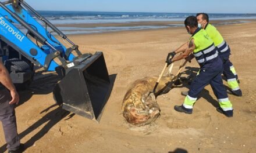
<svg viewBox="0 0 256 153">
<path fill-rule="evenodd" d="M 195 13 L 61 12 L 39 11 L 55 24 L 126 23 L 133 21 L 183 21 Z M 35 18 L 35 17 L 34 17 Z M 209 14 L 211 20 L 256 19 L 256 14 Z"/>
</svg>

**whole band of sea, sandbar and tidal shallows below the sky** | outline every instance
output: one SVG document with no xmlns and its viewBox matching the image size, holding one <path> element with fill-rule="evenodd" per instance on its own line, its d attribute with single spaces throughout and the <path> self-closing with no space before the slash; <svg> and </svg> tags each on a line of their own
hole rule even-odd
<svg viewBox="0 0 256 153">
<path fill-rule="evenodd" d="M 184 27 L 196 13 L 39 11 L 64 34 L 94 34 L 130 30 Z M 256 14 L 208 13 L 212 24 L 241 24 L 256 20 Z M 35 16 L 33 16 L 36 19 Z M 44 23 L 42 23 L 44 24 Z M 51 28 L 47 30 L 51 31 Z"/>
</svg>

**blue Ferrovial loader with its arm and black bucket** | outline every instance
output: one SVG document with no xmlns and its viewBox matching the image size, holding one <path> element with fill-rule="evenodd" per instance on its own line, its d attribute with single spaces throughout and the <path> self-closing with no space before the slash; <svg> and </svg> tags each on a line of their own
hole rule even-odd
<svg viewBox="0 0 256 153">
<path fill-rule="evenodd" d="M 99 121 L 112 90 L 103 53 L 81 53 L 78 45 L 25 1 L 0 2 L 0 57 L 20 88 L 33 81 L 35 67 L 56 71 L 60 78 L 53 90 L 56 103 Z"/>
</svg>

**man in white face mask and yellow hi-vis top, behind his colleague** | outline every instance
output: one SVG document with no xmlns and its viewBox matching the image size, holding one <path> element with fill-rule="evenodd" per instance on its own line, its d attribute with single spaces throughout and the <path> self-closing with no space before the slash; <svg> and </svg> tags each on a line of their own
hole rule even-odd
<svg viewBox="0 0 256 153">
<path fill-rule="evenodd" d="M 211 24 L 209 24 L 209 17 L 206 13 L 197 14 L 198 27 L 204 29 L 209 37 L 214 41 L 214 45 L 217 47 L 219 56 L 223 61 L 223 75 L 227 79 L 227 84 L 231 90 L 227 90 L 228 93 L 236 96 L 242 96 L 241 89 L 239 87 L 239 81 L 234 66 L 229 60 L 230 48 L 225 42 L 219 31 Z"/>
</svg>

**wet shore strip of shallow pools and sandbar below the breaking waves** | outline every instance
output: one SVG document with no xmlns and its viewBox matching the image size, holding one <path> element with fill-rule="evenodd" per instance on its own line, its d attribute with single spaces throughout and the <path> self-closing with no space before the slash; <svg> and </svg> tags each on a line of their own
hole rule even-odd
<svg viewBox="0 0 256 153">
<path fill-rule="evenodd" d="M 251 20 L 214 20 L 210 21 L 215 26 L 246 24 L 255 22 Z M 66 35 L 97 34 L 118 31 L 154 30 L 163 28 L 184 27 L 183 21 L 144 21 L 131 23 L 83 23 L 83 24 L 55 24 Z"/>
</svg>

